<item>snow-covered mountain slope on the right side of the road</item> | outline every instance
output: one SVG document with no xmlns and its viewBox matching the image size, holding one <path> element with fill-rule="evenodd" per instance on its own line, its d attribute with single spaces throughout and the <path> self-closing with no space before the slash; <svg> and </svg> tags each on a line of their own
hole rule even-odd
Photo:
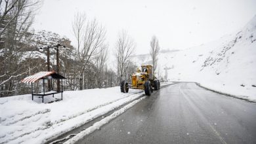
<svg viewBox="0 0 256 144">
<path fill-rule="evenodd" d="M 151 63 L 150 56 L 133 58 L 138 65 Z M 237 33 L 185 50 L 160 52 L 158 69 L 170 81 L 194 81 L 202 86 L 256 98 L 256 16 Z M 165 69 L 167 73 L 165 73 Z M 255 97 L 255 98 L 251 98 Z"/>
</svg>

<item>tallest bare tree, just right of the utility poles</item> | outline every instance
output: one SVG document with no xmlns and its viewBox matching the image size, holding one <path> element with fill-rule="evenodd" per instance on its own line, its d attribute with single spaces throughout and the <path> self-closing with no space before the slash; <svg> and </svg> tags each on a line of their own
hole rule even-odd
<svg viewBox="0 0 256 144">
<path fill-rule="evenodd" d="M 89 63 L 93 63 L 93 58 L 97 56 L 99 49 L 105 45 L 106 30 L 100 26 L 96 20 L 87 20 L 85 14 L 77 14 L 73 22 L 73 31 L 77 38 L 80 49 L 77 51 L 77 67 L 75 67 L 75 77 L 79 80 L 79 90 L 84 89 L 85 69 Z"/>
</svg>

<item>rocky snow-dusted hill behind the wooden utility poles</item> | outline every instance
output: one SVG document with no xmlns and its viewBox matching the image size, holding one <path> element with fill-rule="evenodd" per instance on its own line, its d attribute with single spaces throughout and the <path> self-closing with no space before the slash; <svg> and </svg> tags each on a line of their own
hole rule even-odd
<svg viewBox="0 0 256 144">
<path fill-rule="evenodd" d="M 71 41 L 67 37 L 61 37 L 57 33 L 51 31 L 35 31 L 30 36 L 30 47 L 22 55 L 22 59 L 33 58 L 33 60 L 40 60 L 41 70 L 46 70 L 47 63 L 47 46 L 54 46 L 58 43 L 66 46 L 59 48 L 60 63 L 63 65 L 65 58 L 72 58 L 72 54 L 75 53 L 74 46 L 70 45 Z M 49 48 L 50 50 L 50 63 L 56 66 L 56 48 Z"/>
</svg>

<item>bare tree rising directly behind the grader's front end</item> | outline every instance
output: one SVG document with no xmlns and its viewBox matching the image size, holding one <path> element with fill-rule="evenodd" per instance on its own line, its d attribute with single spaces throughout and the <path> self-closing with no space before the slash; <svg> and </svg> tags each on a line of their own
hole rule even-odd
<svg viewBox="0 0 256 144">
<path fill-rule="evenodd" d="M 127 32 L 121 31 L 116 42 L 117 75 L 119 76 L 119 82 L 124 78 L 125 67 L 129 64 L 131 54 L 133 54 L 135 47 L 135 42 Z"/>
</svg>

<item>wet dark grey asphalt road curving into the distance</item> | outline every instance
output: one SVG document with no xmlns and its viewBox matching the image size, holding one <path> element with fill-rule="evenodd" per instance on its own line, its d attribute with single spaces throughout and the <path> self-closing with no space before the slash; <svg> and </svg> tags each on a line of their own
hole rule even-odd
<svg viewBox="0 0 256 144">
<path fill-rule="evenodd" d="M 77 143 L 256 143 L 256 104 L 173 84 Z"/>
</svg>

